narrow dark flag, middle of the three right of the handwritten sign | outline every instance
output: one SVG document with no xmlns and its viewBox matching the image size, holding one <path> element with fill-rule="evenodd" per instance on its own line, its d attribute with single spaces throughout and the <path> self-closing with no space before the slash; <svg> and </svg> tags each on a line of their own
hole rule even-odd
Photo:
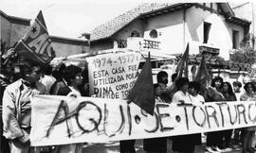
<svg viewBox="0 0 256 153">
<path fill-rule="evenodd" d="M 172 100 L 174 93 L 177 92 L 177 87 L 176 87 L 176 80 L 180 77 L 183 76 L 183 72 L 184 72 L 184 76 L 188 77 L 189 76 L 189 70 L 188 70 L 188 66 L 189 66 L 189 50 L 190 50 L 190 44 L 187 43 L 187 47 L 185 52 L 183 53 L 181 59 L 179 59 L 178 63 L 177 63 L 177 67 L 175 69 L 175 73 L 177 74 L 176 78 L 174 79 L 173 84 L 171 85 L 171 87 L 169 87 L 167 89 L 167 93 L 169 94 L 170 99 Z"/>
</svg>

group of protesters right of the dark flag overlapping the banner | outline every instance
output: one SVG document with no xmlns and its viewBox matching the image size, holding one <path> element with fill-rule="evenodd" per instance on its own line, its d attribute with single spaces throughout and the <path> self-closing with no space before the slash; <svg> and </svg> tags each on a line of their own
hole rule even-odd
<svg viewBox="0 0 256 153">
<path fill-rule="evenodd" d="M 176 74 L 172 76 L 172 80 Z M 155 98 L 160 99 L 161 102 L 166 102 L 164 99 L 167 93 L 167 79 L 168 74 L 165 72 L 159 72 L 157 74 L 157 84 L 155 84 Z M 174 93 L 171 103 L 177 105 L 203 105 L 208 102 L 217 102 L 217 101 L 247 101 L 247 100 L 256 100 L 256 88 L 255 83 L 245 80 L 244 90 L 242 89 L 242 83 L 239 81 L 234 81 L 231 83 L 224 82 L 221 76 L 215 76 L 211 80 L 209 87 L 201 87 L 199 82 L 189 81 L 187 77 L 176 78 L 174 81 L 177 92 Z M 162 85 L 162 84 L 165 84 Z M 203 90 L 202 90 L 203 89 Z M 158 100 L 159 101 L 159 100 Z M 244 127 L 237 129 L 228 129 L 220 131 L 212 131 L 208 133 L 197 133 L 190 135 L 181 135 L 174 136 L 171 138 L 173 140 L 173 150 L 178 153 L 192 153 L 194 152 L 194 146 L 201 144 L 201 134 L 207 135 L 206 140 L 206 150 L 212 153 L 218 152 L 230 152 L 235 149 L 242 147 L 242 153 L 252 153 L 255 152 L 253 145 L 253 140 L 255 139 L 255 130 L 256 127 Z M 158 149 L 146 150 L 147 152 L 166 152 L 166 138 L 157 138 L 162 139 L 158 141 Z M 170 138 L 169 138 L 170 139 Z M 154 139 L 152 139 L 154 140 Z M 145 144 L 150 146 L 148 143 L 149 140 L 144 140 Z M 154 145 L 155 141 L 152 141 L 151 145 Z M 148 148 L 146 145 L 144 147 Z M 160 145 L 162 147 L 160 147 Z M 152 146 L 153 148 L 153 146 Z"/>
</svg>

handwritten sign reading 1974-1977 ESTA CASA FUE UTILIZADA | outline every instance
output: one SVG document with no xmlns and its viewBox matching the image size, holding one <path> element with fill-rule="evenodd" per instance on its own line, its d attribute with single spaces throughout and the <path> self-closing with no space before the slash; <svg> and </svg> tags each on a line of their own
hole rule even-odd
<svg viewBox="0 0 256 153">
<path fill-rule="evenodd" d="M 102 98 L 126 98 L 135 84 L 140 59 L 136 52 L 88 58 L 90 94 Z"/>
</svg>

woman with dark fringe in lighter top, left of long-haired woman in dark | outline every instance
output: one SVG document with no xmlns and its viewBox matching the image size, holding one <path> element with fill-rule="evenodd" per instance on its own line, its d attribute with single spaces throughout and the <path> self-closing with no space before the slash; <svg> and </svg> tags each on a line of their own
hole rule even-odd
<svg viewBox="0 0 256 153">
<path fill-rule="evenodd" d="M 221 86 L 223 83 L 223 78 L 221 76 L 216 76 L 211 81 L 211 87 L 205 93 L 206 102 L 216 102 L 216 101 L 223 101 L 224 96 L 221 93 Z M 222 152 L 219 148 L 221 142 L 221 131 L 212 131 L 207 133 L 207 147 L 206 149 L 209 152 Z"/>
</svg>

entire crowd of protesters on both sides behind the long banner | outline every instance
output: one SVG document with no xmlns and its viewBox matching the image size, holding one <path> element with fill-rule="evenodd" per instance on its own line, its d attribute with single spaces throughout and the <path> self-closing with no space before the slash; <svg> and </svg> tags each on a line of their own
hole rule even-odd
<svg viewBox="0 0 256 153">
<path fill-rule="evenodd" d="M 6 62 L 13 51 L 10 49 L 1 58 L 1 150 L 4 153 L 60 152 L 81 153 L 83 144 L 64 144 L 43 148 L 30 147 L 29 132 L 31 120 L 30 96 L 35 94 L 52 94 L 66 96 L 89 96 L 88 72 L 75 65 L 63 62 L 52 67 L 17 58 Z M 168 100 L 168 74 L 161 71 L 154 84 L 156 103 L 173 103 L 176 105 L 204 105 L 216 101 L 256 100 L 253 82 L 224 82 L 215 76 L 211 85 L 202 93 L 199 82 L 189 81 L 187 77 L 172 76 L 177 92 Z M 212 153 L 227 152 L 241 145 L 243 153 L 255 151 L 252 146 L 256 127 L 221 130 L 204 133 L 207 135 L 206 150 Z M 202 133 L 190 135 L 145 139 L 144 150 L 148 153 L 167 152 L 167 140 L 173 141 L 172 149 L 178 153 L 192 153 L 195 145 L 201 144 Z M 231 139 L 232 138 L 232 139 Z M 121 141 L 120 152 L 136 152 L 135 140 Z"/>
</svg>

